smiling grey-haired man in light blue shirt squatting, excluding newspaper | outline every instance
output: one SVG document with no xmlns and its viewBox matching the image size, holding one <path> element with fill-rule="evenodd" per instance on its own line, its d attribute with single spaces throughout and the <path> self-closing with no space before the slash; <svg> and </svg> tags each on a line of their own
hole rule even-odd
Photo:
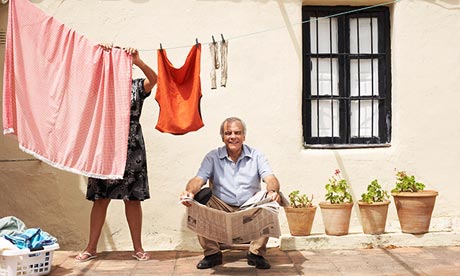
<svg viewBox="0 0 460 276">
<path fill-rule="evenodd" d="M 180 195 L 181 198 L 194 198 L 209 180 L 212 183 L 210 185 L 212 196 L 207 205 L 226 212 L 234 212 L 261 190 L 262 179 L 266 184 L 267 196 L 281 203 L 278 193 L 280 185 L 267 159 L 256 149 L 243 145 L 246 135 L 244 122 L 235 117 L 227 118 L 220 127 L 220 135 L 225 146 L 214 149 L 205 156 L 197 176 L 187 183 L 185 191 Z M 190 206 L 187 202 L 183 204 Z M 196 267 L 205 269 L 222 264 L 219 243 L 202 236 L 198 236 L 198 240 L 203 247 L 204 258 Z M 247 252 L 249 265 L 260 269 L 270 268 L 270 264 L 263 257 L 267 242 L 268 237 L 261 237 L 251 242 Z"/>
</svg>

